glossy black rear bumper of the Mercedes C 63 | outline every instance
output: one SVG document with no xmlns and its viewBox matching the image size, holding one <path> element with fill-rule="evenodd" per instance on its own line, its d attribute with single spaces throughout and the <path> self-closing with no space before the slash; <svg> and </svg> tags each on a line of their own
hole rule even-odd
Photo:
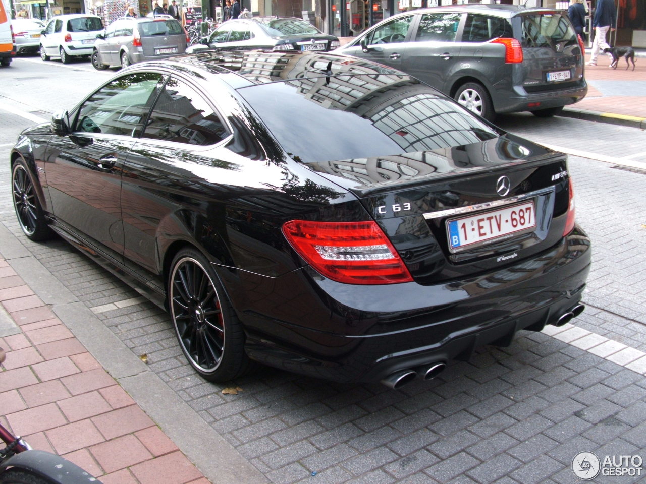
<svg viewBox="0 0 646 484">
<path fill-rule="evenodd" d="M 304 269 L 234 306 L 246 303 L 239 316 L 251 358 L 335 381 L 378 381 L 541 330 L 579 303 L 589 269 L 590 241 L 577 228 L 557 247 L 468 280 L 355 286 Z"/>
</svg>

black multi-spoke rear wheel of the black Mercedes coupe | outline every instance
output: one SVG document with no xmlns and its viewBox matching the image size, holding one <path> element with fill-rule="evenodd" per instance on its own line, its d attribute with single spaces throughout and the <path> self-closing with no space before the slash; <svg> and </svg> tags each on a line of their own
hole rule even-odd
<svg viewBox="0 0 646 484">
<path fill-rule="evenodd" d="M 244 331 L 213 266 L 198 250 L 180 250 L 171 263 L 167 298 L 184 356 L 202 378 L 224 382 L 251 368 Z"/>
</svg>

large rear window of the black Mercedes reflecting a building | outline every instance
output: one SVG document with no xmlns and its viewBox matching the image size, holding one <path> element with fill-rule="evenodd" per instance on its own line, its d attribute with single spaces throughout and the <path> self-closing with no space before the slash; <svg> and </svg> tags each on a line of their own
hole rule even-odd
<svg viewBox="0 0 646 484">
<path fill-rule="evenodd" d="M 408 76 L 320 79 L 238 90 L 282 148 L 304 163 L 421 152 L 498 136 L 462 106 Z"/>
</svg>

